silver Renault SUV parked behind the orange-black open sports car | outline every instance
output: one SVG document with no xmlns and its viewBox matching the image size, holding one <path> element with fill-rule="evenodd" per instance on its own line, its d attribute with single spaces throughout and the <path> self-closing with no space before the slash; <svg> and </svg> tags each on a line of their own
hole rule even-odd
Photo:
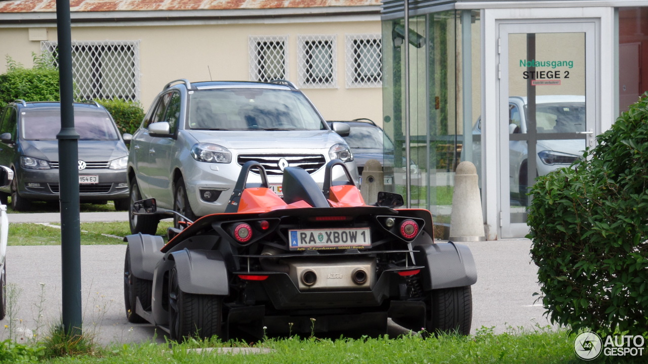
<svg viewBox="0 0 648 364">
<path fill-rule="evenodd" d="M 348 134 L 347 124 L 329 127 L 310 100 L 284 80 L 175 80 L 157 95 L 133 135 L 128 158 L 131 204 L 156 198 L 158 207 L 190 220 L 224 212 L 247 161 L 265 167 L 279 196 L 286 166 L 307 170 L 321 187 L 323 167 L 340 159 L 357 182 L 353 154 L 342 139 Z M 334 179 L 345 179 L 339 169 Z M 156 216 L 129 217 L 133 234 L 155 234 Z M 181 223 L 176 218 L 176 227 Z"/>
</svg>

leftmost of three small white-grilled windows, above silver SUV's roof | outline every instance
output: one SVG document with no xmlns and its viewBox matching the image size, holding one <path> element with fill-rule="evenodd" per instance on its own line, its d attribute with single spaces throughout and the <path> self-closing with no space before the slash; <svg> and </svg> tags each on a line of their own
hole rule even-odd
<svg viewBox="0 0 648 364">
<path fill-rule="evenodd" d="M 264 62 L 259 45 L 264 44 L 266 47 L 270 43 L 281 43 L 283 47 L 283 60 L 271 60 Z M 288 36 L 249 36 L 249 80 L 251 81 L 271 81 L 274 79 L 288 79 Z M 273 54 L 276 56 L 277 52 Z M 267 56 L 264 55 L 264 56 Z M 271 64 L 272 63 L 272 64 Z M 281 64 L 283 76 L 272 77 L 264 73 L 264 67 L 271 65 L 277 67 Z"/>
</svg>

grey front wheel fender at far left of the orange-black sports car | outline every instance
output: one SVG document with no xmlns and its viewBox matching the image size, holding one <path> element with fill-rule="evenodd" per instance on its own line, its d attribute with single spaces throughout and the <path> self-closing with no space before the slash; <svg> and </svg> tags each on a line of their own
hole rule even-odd
<svg viewBox="0 0 648 364">
<path fill-rule="evenodd" d="M 162 236 L 135 234 L 124 238 L 130 250 L 130 269 L 139 279 L 153 280 L 153 271 L 164 253 L 160 251 L 164 245 Z"/>
</svg>

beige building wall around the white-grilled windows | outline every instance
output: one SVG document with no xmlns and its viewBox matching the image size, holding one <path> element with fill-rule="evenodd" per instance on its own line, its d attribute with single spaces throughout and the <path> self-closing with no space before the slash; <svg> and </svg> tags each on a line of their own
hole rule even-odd
<svg viewBox="0 0 648 364">
<path fill-rule="evenodd" d="M 327 120 L 367 117 L 382 124 L 382 88 L 346 87 L 346 34 L 380 34 L 380 17 L 367 21 L 349 17 L 348 21 L 324 22 L 305 19 L 292 23 L 196 24 L 165 26 L 75 26 L 73 41 L 140 41 L 141 93 L 145 109 L 165 84 L 178 78 L 190 81 L 249 80 L 249 36 L 288 36 L 288 79 L 297 84 L 297 36 L 336 36 L 337 87 L 303 88 Z M 40 52 L 40 41 L 56 41 L 56 28 L 34 32 L 29 27 L 0 27 L 0 55 L 30 67 L 32 52 Z M 42 28 L 41 28 L 42 29 Z M 46 33 L 47 39 L 41 39 Z M 33 34 L 40 36 L 34 37 Z M 0 72 L 6 62 L 0 63 Z"/>
</svg>

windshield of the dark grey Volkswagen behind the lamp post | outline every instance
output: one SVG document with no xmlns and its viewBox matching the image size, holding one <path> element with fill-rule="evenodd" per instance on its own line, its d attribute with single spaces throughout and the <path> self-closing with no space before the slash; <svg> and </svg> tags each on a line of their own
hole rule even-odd
<svg viewBox="0 0 648 364">
<path fill-rule="evenodd" d="M 117 130 L 108 114 L 75 110 L 75 129 L 82 141 L 116 141 Z M 27 111 L 22 117 L 21 132 L 28 141 L 55 141 L 61 131 L 59 110 Z"/>
</svg>

